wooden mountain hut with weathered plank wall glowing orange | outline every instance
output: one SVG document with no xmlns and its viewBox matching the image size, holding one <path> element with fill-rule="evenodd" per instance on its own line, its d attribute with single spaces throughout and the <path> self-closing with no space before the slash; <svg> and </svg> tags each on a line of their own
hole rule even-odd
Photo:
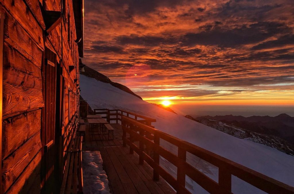
<svg viewBox="0 0 294 194">
<path fill-rule="evenodd" d="M 1 193 L 60 192 L 82 57 L 83 0 L 0 0 Z"/>
</svg>

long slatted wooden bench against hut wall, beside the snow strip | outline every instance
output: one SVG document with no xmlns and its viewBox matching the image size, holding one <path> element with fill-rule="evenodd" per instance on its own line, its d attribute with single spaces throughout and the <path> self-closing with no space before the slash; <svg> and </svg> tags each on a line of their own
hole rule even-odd
<svg viewBox="0 0 294 194">
<path fill-rule="evenodd" d="M 69 144 L 60 194 L 83 193 L 82 171 L 83 136 L 75 136 Z"/>
</svg>

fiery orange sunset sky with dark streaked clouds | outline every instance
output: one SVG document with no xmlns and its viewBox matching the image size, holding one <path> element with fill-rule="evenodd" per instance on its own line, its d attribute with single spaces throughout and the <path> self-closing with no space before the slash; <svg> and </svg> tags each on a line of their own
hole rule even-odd
<svg viewBox="0 0 294 194">
<path fill-rule="evenodd" d="M 151 103 L 294 105 L 293 0 L 85 0 L 84 49 Z"/>
</svg>

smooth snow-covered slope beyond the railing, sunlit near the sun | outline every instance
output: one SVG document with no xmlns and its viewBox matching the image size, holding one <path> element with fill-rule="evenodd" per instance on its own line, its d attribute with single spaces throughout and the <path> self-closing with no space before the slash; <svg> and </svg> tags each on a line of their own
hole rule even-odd
<svg viewBox="0 0 294 194">
<path fill-rule="evenodd" d="M 129 93 L 81 75 L 81 96 L 92 108 L 124 109 L 157 120 L 155 128 L 198 145 L 206 150 L 233 160 L 269 177 L 294 186 L 294 157 L 268 146 L 238 139 L 226 133 L 171 113 L 151 103 L 147 103 Z M 176 152 L 168 143 L 161 142 L 166 148 Z M 218 169 L 205 161 L 188 155 L 191 165 L 218 181 Z M 161 165 L 173 172 L 173 166 L 165 160 Z M 175 174 L 175 173 L 174 173 Z M 186 187 L 192 193 L 205 193 L 196 183 L 186 178 Z M 244 181 L 232 177 L 233 193 L 263 193 Z"/>
</svg>

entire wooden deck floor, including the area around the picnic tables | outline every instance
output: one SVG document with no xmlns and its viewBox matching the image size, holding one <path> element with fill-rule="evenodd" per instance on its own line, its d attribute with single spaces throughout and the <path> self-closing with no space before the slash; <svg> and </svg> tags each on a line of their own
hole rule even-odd
<svg viewBox="0 0 294 194">
<path fill-rule="evenodd" d="M 153 169 L 145 162 L 139 165 L 139 156 L 129 154 L 129 147 L 122 146 L 122 128 L 120 124 L 111 124 L 114 128 L 114 140 L 104 140 L 95 135 L 90 138 L 89 125 L 86 124 L 83 151 L 98 150 L 103 160 L 103 170 L 106 171 L 111 193 L 176 193 L 170 185 L 160 177 L 153 180 Z M 87 184 L 87 183 L 84 183 Z"/>
</svg>

